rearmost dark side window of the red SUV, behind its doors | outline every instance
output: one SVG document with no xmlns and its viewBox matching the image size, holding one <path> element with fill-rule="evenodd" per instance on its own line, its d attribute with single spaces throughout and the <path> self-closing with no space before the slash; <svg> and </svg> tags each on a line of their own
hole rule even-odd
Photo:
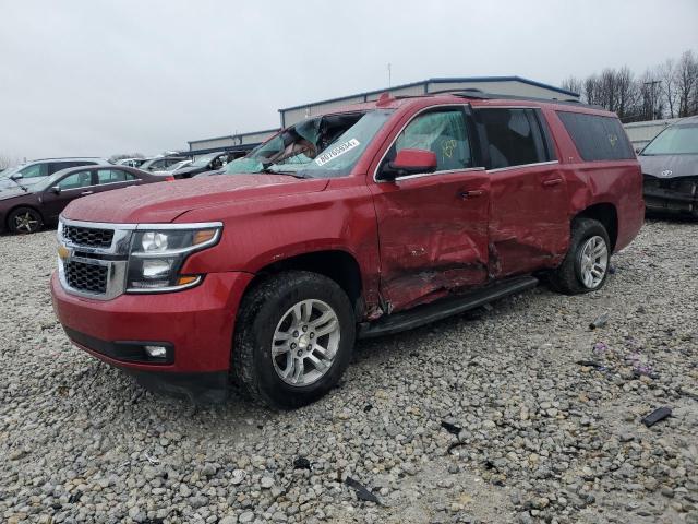
<svg viewBox="0 0 698 524">
<path fill-rule="evenodd" d="M 635 158 L 633 146 L 617 118 L 569 111 L 557 111 L 557 116 L 582 159 L 594 162 Z"/>
</svg>

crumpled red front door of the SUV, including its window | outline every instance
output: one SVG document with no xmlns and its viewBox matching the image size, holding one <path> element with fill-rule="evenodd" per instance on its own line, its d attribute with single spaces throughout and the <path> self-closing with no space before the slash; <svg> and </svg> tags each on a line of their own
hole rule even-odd
<svg viewBox="0 0 698 524">
<path fill-rule="evenodd" d="M 434 152 L 434 172 L 370 186 L 378 223 L 381 296 L 387 311 L 429 302 L 488 281 L 489 177 L 465 106 L 416 115 L 378 172 L 401 148 Z M 378 177 L 380 178 L 380 177 Z"/>
</svg>

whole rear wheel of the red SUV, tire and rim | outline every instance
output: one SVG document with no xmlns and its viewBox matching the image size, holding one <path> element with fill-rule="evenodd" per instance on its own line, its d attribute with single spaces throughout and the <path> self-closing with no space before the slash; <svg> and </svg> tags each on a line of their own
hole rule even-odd
<svg viewBox="0 0 698 524">
<path fill-rule="evenodd" d="M 611 242 L 606 229 L 593 218 L 576 218 L 567 255 L 552 273 L 550 283 L 566 295 L 594 291 L 605 284 L 610 264 Z"/>
</svg>

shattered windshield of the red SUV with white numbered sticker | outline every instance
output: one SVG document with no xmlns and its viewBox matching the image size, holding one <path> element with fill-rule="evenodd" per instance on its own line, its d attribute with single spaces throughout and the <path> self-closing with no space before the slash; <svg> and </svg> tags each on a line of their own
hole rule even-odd
<svg viewBox="0 0 698 524">
<path fill-rule="evenodd" d="M 285 172 L 309 178 L 349 175 L 392 112 L 373 110 L 304 120 L 232 160 L 225 172 Z"/>
</svg>

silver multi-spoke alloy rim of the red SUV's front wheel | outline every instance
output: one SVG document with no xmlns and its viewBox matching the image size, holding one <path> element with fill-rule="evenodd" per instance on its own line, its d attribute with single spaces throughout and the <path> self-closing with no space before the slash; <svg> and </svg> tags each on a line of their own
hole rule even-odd
<svg viewBox="0 0 698 524">
<path fill-rule="evenodd" d="M 274 369 L 287 384 L 310 385 L 332 368 L 339 337 L 339 319 L 329 305 L 300 301 L 284 313 L 274 332 Z"/>
</svg>

